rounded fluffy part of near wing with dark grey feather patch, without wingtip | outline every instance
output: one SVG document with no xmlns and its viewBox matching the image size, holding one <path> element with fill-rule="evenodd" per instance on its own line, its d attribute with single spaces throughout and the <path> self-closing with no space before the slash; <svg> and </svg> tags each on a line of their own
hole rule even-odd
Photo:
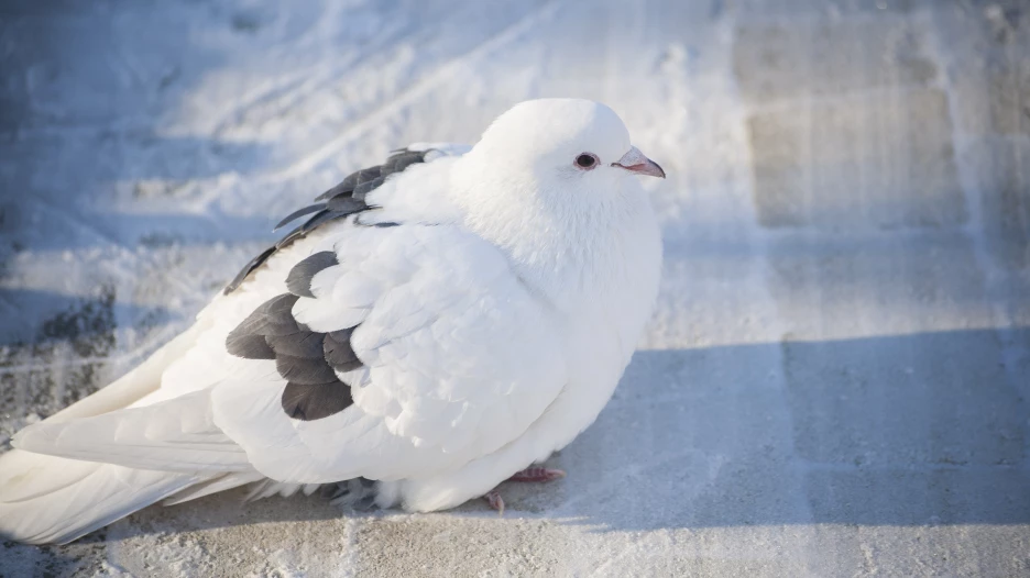
<svg viewBox="0 0 1030 578">
<path fill-rule="evenodd" d="M 554 320 L 450 224 L 352 226 L 227 338 L 213 421 L 270 478 L 399 479 L 515 440 L 566 382 Z"/>
</svg>

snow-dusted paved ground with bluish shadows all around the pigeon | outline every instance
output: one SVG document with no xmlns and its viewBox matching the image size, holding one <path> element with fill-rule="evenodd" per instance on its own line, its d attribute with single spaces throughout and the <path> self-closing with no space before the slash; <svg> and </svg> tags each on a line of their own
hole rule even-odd
<svg viewBox="0 0 1030 578">
<path fill-rule="evenodd" d="M 0 70 L 4 444 L 391 148 L 579 96 L 670 176 L 640 351 L 504 518 L 227 494 L 2 576 L 1030 575 L 1024 0 L 12 0 Z"/>
</svg>

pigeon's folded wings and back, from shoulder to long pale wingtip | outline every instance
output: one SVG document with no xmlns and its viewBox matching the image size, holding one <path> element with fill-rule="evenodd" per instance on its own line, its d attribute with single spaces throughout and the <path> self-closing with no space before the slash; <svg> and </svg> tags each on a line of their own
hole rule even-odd
<svg viewBox="0 0 1030 578">
<path fill-rule="evenodd" d="M 453 152 L 412 154 L 391 158 Z M 15 444 L 315 483 L 429 475 L 515 440 L 566 384 L 557 321 L 495 246 L 446 218 L 446 171 L 430 165 L 373 196 L 348 177 L 201 312 L 157 391 Z"/>
</svg>

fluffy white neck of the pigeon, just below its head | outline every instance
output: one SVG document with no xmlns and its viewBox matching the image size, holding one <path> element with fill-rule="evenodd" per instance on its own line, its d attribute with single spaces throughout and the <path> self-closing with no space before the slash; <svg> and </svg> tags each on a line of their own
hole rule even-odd
<svg viewBox="0 0 1030 578">
<path fill-rule="evenodd" d="M 657 276 L 658 230 L 633 179 L 585 202 L 573 197 L 583 191 L 548 190 L 530 179 L 456 181 L 464 226 L 497 246 L 523 284 L 558 311 L 606 307 L 635 279 Z"/>
</svg>

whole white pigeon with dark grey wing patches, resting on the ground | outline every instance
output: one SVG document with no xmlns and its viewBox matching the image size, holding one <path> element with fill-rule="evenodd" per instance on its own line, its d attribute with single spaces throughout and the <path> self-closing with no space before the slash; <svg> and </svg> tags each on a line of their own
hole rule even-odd
<svg viewBox="0 0 1030 578">
<path fill-rule="evenodd" d="M 611 109 L 545 99 L 349 176 L 189 330 L 18 433 L 0 534 L 66 543 L 254 482 L 428 512 L 561 476 L 524 468 L 594 421 L 658 291 L 637 175 L 665 177 Z"/>
</svg>

